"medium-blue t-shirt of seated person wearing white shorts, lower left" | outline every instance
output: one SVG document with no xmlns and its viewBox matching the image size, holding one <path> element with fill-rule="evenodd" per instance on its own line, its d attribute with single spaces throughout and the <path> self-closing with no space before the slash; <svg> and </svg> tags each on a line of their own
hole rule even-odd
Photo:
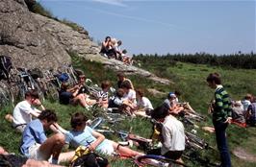
<svg viewBox="0 0 256 167">
<path fill-rule="evenodd" d="M 31 121 L 22 133 L 20 151 L 29 156 L 29 148 L 35 143 L 41 144 L 47 139 L 40 120 Z"/>
</svg>

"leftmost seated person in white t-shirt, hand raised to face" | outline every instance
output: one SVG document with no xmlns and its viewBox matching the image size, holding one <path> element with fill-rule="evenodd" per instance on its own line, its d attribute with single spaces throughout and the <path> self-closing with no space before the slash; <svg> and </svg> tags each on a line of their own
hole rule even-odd
<svg viewBox="0 0 256 167">
<path fill-rule="evenodd" d="M 38 91 L 27 91 L 25 100 L 14 107 L 13 116 L 9 115 L 9 119 L 13 122 L 13 127 L 16 131 L 23 132 L 26 125 L 32 121 L 32 117 L 38 117 L 41 111 L 37 107 L 44 109 L 39 100 Z"/>
</svg>

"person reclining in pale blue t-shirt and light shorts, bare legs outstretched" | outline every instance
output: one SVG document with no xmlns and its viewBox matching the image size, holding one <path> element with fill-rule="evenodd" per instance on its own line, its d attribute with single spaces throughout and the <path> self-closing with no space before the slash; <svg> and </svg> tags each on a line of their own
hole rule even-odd
<svg viewBox="0 0 256 167">
<path fill-rule="evenodd" d="M 88 118 L 82 112 L 76 112 L 71 116 L 72 130 L 65 133 L 65 142 L 77 148 L 86 146 L 90 151 L 96 151 L 104 155 L 113 155 L 118 152 L 120 155 L 136 156 L 142 155 L 127 147 L 119 146 L 115 141 L 105 139 L 105 136 L 93 131 L 87 126 Z"/>
</svg>

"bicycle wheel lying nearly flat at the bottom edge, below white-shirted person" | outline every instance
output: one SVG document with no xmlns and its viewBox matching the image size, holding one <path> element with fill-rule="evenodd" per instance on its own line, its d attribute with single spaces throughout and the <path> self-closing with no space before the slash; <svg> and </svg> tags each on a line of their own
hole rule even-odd
<svg viewBox="0 0 256 167">
<path fill-rule="evenodd" d="M 174 165 L 181 165 L 187 167 L 184 163 L 167 158 L 162 155 L 141 155 L 136 158 L 143 165 L 155 167 L 171 167 Z"/>
</svg>

